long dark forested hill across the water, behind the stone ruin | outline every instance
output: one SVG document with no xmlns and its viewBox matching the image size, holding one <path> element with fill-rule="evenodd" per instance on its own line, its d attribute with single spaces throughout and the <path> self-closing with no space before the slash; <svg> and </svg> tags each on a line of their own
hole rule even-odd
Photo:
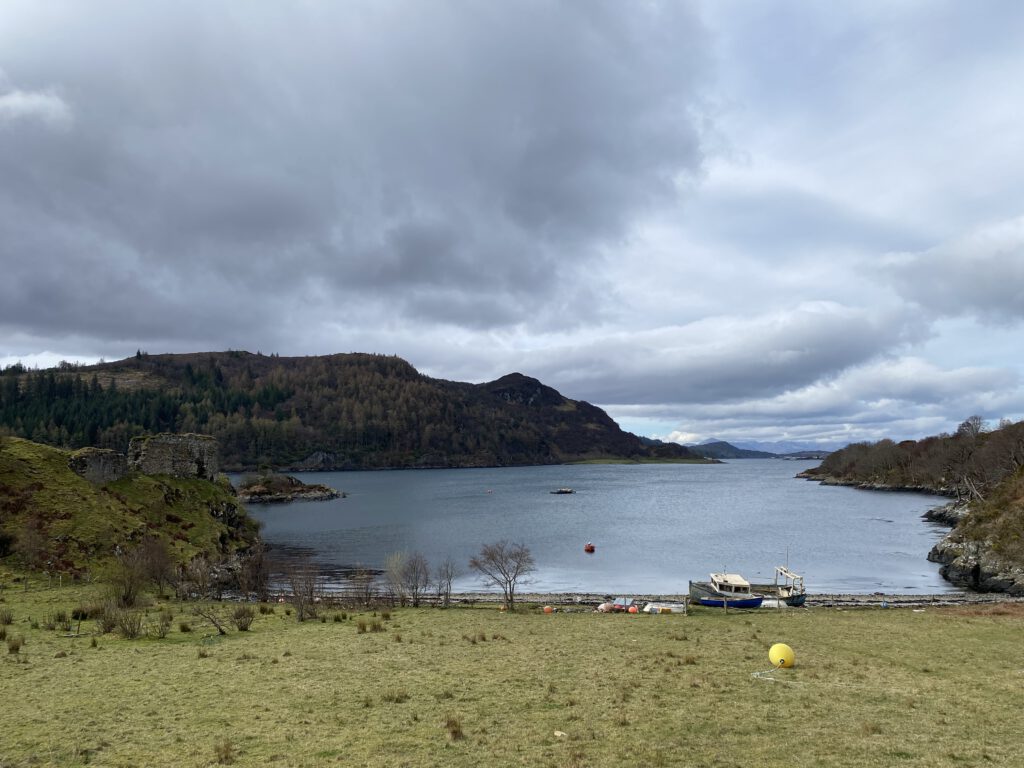
<svg viewBox="0 0 1024 768">
<path fill-rule="evenodd" d="M 145 354 L 0 375 L 0 430 L 66 447 L 201 432 L 225 469 L 482 467 L 587 459 L 693 459 L 648 447 L 601 409 L 521 374 L 431 379 L 376 354 Z"/>
</svg>

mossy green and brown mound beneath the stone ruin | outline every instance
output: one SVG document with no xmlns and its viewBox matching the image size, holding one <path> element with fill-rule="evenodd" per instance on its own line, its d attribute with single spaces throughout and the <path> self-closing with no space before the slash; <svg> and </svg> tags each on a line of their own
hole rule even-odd
<svg viewBox="0 0 1024 768">
<path fill-rule="evenodd" d="M 226 479 L 132 472 L 96 484 L 69 467 L 72 454 L 0 437 L 0 556 L 29 566 L 85 573 L 118 547 L 162 541 L 178 562 L 247 550 L 255 523 Z"/>
</svg>

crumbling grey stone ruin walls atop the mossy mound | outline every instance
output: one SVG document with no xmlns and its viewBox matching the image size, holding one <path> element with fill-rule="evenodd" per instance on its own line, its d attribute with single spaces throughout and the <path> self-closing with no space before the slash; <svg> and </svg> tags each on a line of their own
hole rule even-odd
<svg viewBox="0 0 1024 768">
<path fill-rule="evenodd" d="M 82 449 L 68 466 L 95 483 L 112 482 L 129 472 L 215 480 L 220 471 L 215 437 L 204 434 L 157 434 L 133 437 L 128 455 L 109 449 Z"/>
</svg>

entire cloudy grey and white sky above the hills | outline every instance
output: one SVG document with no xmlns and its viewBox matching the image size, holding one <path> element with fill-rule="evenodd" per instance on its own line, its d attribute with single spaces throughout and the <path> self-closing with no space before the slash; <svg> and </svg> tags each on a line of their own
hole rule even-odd
<svg viewBox="0 0 1024 768">
<path fill-rule="evenodd" d="M 4 0 L 0 366 L 397 354 L 684 443 L 1019 420 L 1021 40 L 1017 0 Z"/>
</svg>

